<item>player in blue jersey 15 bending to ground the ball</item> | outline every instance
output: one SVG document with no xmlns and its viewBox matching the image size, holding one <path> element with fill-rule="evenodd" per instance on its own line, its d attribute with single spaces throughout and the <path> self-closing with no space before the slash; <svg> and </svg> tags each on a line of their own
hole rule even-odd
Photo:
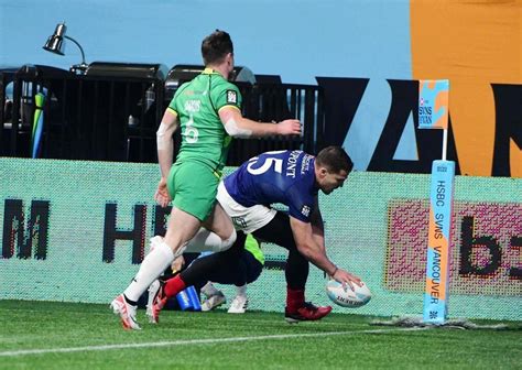
<svg viewBox="0 0 522 370">
<path fill-rule="evenodd" d="M 325 148 L 317 156 L 298 150 L 274 151 L 249 160 L 219 184 L 217 199 L 236 229 L 289 250 L 285 319 L 290 323 L 320 319 L 331 311 L 305 302 L 308 261 L 342 284 L 361 284 L 328 259 L 317 196 L 319 191 L 330 194 L 341 187 L 352 167 L 340 146 Z M 278 203 L 286 205 L 289 213 L 271 207 Z M 155 320 L 166 300 L 186 283 L 178 275 L 159 290 Z"/>
</svg>

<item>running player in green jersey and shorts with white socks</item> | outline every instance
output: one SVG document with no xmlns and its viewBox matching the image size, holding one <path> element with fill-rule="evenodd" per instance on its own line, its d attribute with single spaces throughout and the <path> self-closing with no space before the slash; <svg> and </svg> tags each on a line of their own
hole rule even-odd
<svg viewBox="0 0 522 370">
<path fill-rule="evenodd" d="M 301 134 L 301 122 L 255 122 L 241 115 L 241 94 L 227 79 L 233 70 L 233 45 L 217 30 L 202 43 L 205 70 L 182 85 L 165 110 L 156 133 L 161 179 L 155 200 L 173 203 L 163 241 L 143 260 L 137 275 L 110 304 L 126 329 L 140 329 L 137 301 L 184 251 L 227 250 L 236 240 L 232 222 L 216 202 L 230 137 Z M 181 127 L 182 145 L 173 165 L 173 133 Z"/>
</svg>

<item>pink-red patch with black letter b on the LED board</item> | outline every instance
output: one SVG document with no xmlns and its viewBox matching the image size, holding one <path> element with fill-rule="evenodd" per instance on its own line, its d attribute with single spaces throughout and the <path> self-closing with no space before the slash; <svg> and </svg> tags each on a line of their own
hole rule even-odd
<svg viewBox="0 0 522 370">
<path fill-rule="evenodd" d="M 385 286 L 391 292 L 424 291 L 429 204 L 391 199 L 388 213 Z M 452 296 L 522 295 L 521 203 L 455 200 L 449 233 Z"/>
</svg>

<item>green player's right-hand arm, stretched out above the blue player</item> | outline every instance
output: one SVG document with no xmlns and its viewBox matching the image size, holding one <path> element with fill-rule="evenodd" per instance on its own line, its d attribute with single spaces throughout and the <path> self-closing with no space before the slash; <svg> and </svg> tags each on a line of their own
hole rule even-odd
<svg viewBox="0 0 522 370">
<path fill-rule="evenodd" d="M 224 107 L 219 110 L 219 118 L 227 133 L 235 138 L 262 138 L 270 135 L 298 135 L 301 134 L 301 122 L 296 119 L 287 119 L 275 124 L 255 122 L 242 117 L 235 107 Z"/>
</svg>

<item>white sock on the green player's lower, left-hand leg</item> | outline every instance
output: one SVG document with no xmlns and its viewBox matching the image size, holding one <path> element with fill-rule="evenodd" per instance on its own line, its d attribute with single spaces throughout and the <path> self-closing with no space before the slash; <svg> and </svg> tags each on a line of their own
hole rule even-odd
<svg viewBox="0 0 522 370">
<path fill-rule="evenodd" d="M 171 247 L 164 242 L 156 244 L 141 262 L 140 270 L 123 294 L 129 300 L 137 302 L 149 289 L 149 285 L 171 265 L 172 261 L 174 261 L 174 253 Z"/>
</svg>

